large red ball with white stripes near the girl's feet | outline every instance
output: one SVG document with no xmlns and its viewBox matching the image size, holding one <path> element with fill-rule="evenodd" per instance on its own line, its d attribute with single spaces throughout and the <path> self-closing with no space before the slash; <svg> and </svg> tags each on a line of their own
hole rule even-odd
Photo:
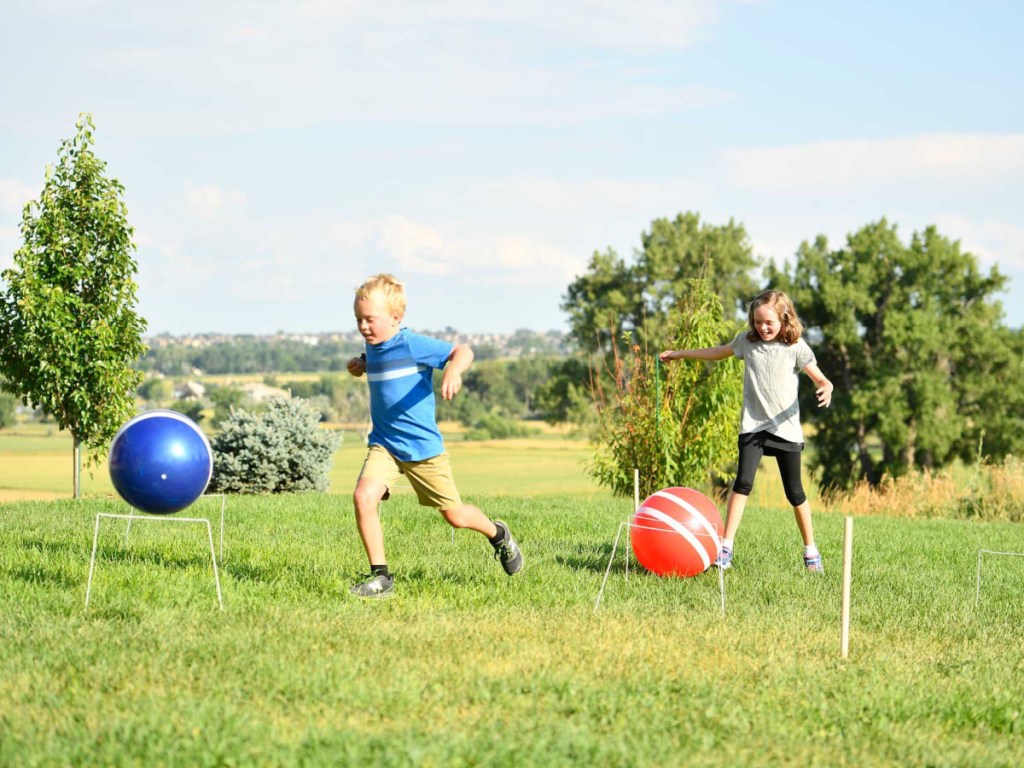
<svg viewBox="0 0 1024 768">
<path fill-rule="evenodd" d="M 648 496 L 633 515 L 633 553 L 658 575 L 703 573 L 718 557 L 722 516 L 699 490 L 673 487 Z"/>
</svg>

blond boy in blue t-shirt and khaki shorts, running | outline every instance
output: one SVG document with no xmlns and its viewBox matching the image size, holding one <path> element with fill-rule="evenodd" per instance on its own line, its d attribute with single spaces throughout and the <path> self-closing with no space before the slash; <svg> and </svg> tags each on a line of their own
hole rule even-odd
<svg viewBox="0 0 1024 768">
<path fill-rule="evenodd" d="M 441 397 L 451 400 L 462 389 L 462 374 L 473 351 L 401 328 L 406 289 L 391 274 L 377 274 L 355 290 L 355 322 L 367 342 L 366 352 L 348 361 L 352 376 L 367 375 L 373 428 L 369 450 L 355 483 L 355 522 L 370 559 L 370 573 L 351 588 L 361 598 L 389 597 L 394 580 L 384 557 L 384 532 L 378 505 L 404 475 L 420 504 L 435 507 L 449 524 L 471 528 L 487 538 L 495 557 L 509 575 L 522 568 L 522 554 L 509 526 L 463 504 L 452 478 L 434 414 L 433 371 L 444 369 Z"/>
</svg>

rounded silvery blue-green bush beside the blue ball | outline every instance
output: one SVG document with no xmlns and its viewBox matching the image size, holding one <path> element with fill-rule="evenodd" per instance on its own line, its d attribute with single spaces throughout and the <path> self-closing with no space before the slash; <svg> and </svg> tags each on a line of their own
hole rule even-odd
<svg viewBox="0 0 1024 768">
<path fill-rule="evenodd" d="M 298 397 L 266 410 L 232 410 L 213 438 L 211 493 L 326 490 L 341 434 L 319 428 L 319 412 Z"/>
</svg>

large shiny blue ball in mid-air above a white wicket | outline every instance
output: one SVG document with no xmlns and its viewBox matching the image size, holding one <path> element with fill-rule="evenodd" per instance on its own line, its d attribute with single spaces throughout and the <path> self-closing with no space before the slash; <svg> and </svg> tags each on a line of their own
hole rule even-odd
<svg viewBox="0 0 1024 768">
<path fill-rule="evenodd" d="M 213 451 L 188 417 L 146 411 L 114 436 L 110 465 L 122 499 L 143 512 L 169 515 L 203 496 L 213 475 Z"/>
</svg>

